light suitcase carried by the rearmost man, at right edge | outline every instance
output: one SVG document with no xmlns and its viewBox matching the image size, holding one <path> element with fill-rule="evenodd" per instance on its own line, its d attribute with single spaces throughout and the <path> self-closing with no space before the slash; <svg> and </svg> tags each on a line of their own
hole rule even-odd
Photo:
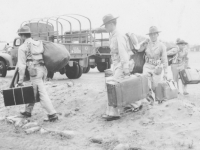
<svg viewBox="0 0 200 150">
<path fill-rule="evenodd" d="M 196 69 L 184 69 L 179 74 L 183 84 L 200 83 L 200 74 Z"/>
</svg>

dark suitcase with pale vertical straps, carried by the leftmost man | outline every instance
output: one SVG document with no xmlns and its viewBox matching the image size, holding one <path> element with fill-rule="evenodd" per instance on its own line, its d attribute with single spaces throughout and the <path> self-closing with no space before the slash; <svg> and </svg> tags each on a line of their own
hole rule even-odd
<svg viewBox="0 0 200 150">
<path fill-rule="evenodd" d="M 5 106 L 39 102 L 38 98 L 35 100 L 33 86 L 24 86 L 3 90 L 3 97 Z"/>
</svg>

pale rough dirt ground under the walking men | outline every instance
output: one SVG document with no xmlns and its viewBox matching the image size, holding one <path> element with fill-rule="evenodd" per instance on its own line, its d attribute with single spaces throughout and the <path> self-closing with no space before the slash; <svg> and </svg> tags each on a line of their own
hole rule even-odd
<svg viewBox="0 0 200 150">
<path fill-rule="evenodd" d="M 190 66 L 200 69 L 200 53 L 189 54 Z M 8 87 L 13 75 L 0 78 L 0 88 Z M 69 83 L 73 86 L 69 87 Z M 0 122 L 0 150 L 112 150 L 119 143 L 127 143 L 142 150 L 199 150 L 200 149 L 200 85 L 189 85 L 188 96 L 150 107 L 146 103 L 139 112 L 122 115 L 120 120 L 106 122 L 101 115 L 106 108 L 104 73 L 92 69 L 80 79 L 68 80 L 56 73 L 46 82 L 47 91 L 58 111 L 59 121 L 43 122 L 46 117 L 38 103 L 32 121 L 43 128 L 72 130 L 72 139 L 58 135 L 25 134 L 13 125 Z M 182 92 L 182 91 L 181 91 Z M 4 107 L 0 96 L 0 117 L 19 114 L 24 106 Z M 90 138 L 101 138 L 101 144 Z"/>
</svg>

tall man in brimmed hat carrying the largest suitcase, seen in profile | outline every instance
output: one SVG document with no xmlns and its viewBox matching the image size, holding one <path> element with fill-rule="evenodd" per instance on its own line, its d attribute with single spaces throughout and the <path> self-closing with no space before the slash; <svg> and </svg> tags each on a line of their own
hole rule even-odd
<svg viewBox="0 0 200 150">
<path fill-rule="evenodd" d="M 110 32 L 110 49 L 114 79 L 120 79 L 130 75 L 130 56 L 132 54 L 130 47 L 128 47 L 127 37 L 116 29 L 117 18 L 111 14 L 103 17 L 103 25 L 105 25 L 107 32 Z M 119 108 L 107 106 L 106 114 L 102 117 L 107 121 L 119 119 Z"/>
</svg>

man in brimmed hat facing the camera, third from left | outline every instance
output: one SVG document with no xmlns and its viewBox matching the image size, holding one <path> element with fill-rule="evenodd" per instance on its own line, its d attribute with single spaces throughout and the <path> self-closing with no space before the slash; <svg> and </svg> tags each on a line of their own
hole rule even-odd
<svg viewBox="0 0 200 150">
<path fill-rule="evenodd" d="M 149 77 L 150 93 L 147 100 L 153 100 L 152 91 L 155 93 L 158 83 L 162 82 L 163 78 L 167 78 L 167 52 L 165 45 L 158 41 L 159 32 L 157 27 L 152 26 L 147 34 L 150 41 L 146 46 L 145 64 L 143 66 L 143 73 L 148 74 Z"/>
</svg>

